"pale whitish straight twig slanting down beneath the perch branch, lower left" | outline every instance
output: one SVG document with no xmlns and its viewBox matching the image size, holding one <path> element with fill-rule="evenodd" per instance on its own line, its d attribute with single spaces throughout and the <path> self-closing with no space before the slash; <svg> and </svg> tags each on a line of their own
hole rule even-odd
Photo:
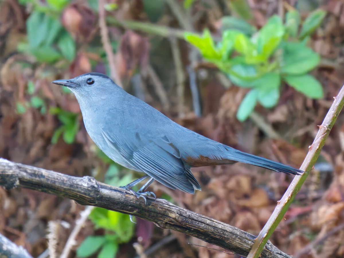
<svg viewBox="0 0 344 258">
<path fill-rule="evenodd" d="M 76 236 L 79 234 L 82 227 L 85 226 L 85 221 L 87 220 L 88 215 L 92 212 L 94 208 L 94 206 L 86 206 L 86 208 L 82 212 L 80 212 L 80 218 L 78 218 L 75 222 L 75 227 L 73 228 L 71 234 L 68 237 L 68 240 L 63 248 L 60 258 L 68 257 L 72 247 L 76 245 Z"/>
</svg>

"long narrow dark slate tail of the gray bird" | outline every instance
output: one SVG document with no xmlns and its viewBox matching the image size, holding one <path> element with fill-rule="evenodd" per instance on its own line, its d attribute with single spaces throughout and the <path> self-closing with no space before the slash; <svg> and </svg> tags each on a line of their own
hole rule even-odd
<svg viewBox="0 0 344 258">
<path fill-rule="evenodd" d="M 292 166 L 283 165 L 281 163 L 258 157 L 249 153 L 241 152 L 235 149 L 230 149 L 230 160 L 247 163 L 261 168 L 273 170 L 276 172 L 283 172 L 292 175 L 301 175 L 304 171 L 295 169 Z"/>
</svg>

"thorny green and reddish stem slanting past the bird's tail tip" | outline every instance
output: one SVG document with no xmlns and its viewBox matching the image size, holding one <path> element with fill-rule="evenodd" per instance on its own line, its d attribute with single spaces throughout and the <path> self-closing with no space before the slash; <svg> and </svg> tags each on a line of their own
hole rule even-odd
<svg viewBox="0 0 344 258">
<path fill-rule="evenodd" d="M 325 144 L 327 136 L 329 135 L 340 111 L 343 108 L 343 105 L 344 86 L 342 87 L 338 95 L 334 98 L 333 104 L 329 109 L 329 112 L 327 112 L 327 115 L 324 118 L 322 125 L 319 126 L 318 134 L 316 135 L 312 145 L 309 147 L 309 152 L 301 165 L 301 170 L 310 171 L 312 169 L 316 159 L 318 159 L 321 148 Z M 287 191 L 284 193 L 283 197 L 278 202 L 268 222 L 265 224 L 264 228 L 261 230 L 258 237 L 256 238 L 255 243 L 252 246 L 252 249 L 248 255 L 248 258 L 259 257 L 261 250 L 265 246 L 265 243 L 268 241 L 269 237 L 272 235 L 277 225 L 283 219 L 284 214 L 287 212 L 288 207 L 294 200 L 295 195 L 300 190 L 308 174 L 309 173 L 307 172 L 303 175 L 295 176 L 295 178 L 289 185 Z"/>
</svg>

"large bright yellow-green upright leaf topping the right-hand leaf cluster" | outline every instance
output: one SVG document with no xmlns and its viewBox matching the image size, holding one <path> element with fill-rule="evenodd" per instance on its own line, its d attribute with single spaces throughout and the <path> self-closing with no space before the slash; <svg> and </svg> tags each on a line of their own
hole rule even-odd
<svg viewBox="0 0 344 258">
<path fill-rule="evenodd" d="M 258 54 L 265 60 L 276 50 L 284 35 L 284 27 L 279 16 L 273 15 L 259 30 L 258 36 L 253 39 L 256 42 Z"/>
</svg>

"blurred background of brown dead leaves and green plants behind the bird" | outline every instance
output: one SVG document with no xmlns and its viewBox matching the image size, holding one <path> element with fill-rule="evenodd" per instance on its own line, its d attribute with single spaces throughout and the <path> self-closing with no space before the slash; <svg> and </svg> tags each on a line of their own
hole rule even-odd
<svg viewBox="0 0 344 258">
<path fill-rule="evenodd" d="M 92 71 L 191 130 L 297 167 L 344 82 L 343 10 L 340 0 L 2 0 L 0 155 L 117 186 L 138 178 L 97 149 L 74 95 L 50 83 Z M 344 255 L 343 122 L 270 239 L 288 254 Z M 256 235 L 292 179 L 244 164 L 193 171 L 202 192 L 150 190 Z M 60 257 L 83 209 L 0 189 L 0 233 Z M 75 240 L 69 257 L 228 256 L 100 208 Z"/>
</svg>

